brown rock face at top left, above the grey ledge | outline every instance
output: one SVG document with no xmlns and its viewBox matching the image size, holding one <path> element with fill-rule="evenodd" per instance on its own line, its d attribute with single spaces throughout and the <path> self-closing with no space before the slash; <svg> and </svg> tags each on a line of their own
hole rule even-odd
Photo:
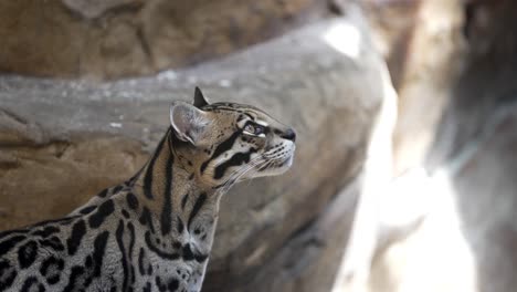
<svg viewBox="0 0 517 292">
<path fill-rule="evenodd" d="M 0 71 L 116 79 L 221 56 L 326 14 L 324 1 L 0 1 Z"/>
</svg>

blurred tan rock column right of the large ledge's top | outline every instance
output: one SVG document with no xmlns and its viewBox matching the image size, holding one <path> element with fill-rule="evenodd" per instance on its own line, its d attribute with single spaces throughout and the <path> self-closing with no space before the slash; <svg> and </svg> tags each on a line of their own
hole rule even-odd
<svg viewBox="0 0 517 292">
<path fill-rule="evenodd" d="M 377 43 L 399 94 L 394 173 L 419 167 L 464 61 L 461 1 L 368 1 Z"/>
</svg>

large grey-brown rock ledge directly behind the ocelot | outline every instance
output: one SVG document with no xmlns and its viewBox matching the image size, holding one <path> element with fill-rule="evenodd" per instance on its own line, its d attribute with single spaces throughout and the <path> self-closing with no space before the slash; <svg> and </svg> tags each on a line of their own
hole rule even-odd
<svg viewBox="0 0 517 292">
<path fill-rule="evenodd" d="M 170 101 L 190 100 L 199 85 L 213 101 L 266 109 L 299 137 L 288 174 L 238 186 L 223 198 L 203 291 L 250 291 L 247 283 L 271 291 L 262 279 L 278 273 L 277 291 L 331 285 L 338 264 L 327 261 L 342 253 L 358 195 L 350 181 L 365 164 L 387 82 L 352 11 L 154 77 L 104 84 L 1 77 L 0 229 L 62 216 L 129 176 L 162 135 Z M 347 186 L 348 195 L 333 199 Z M 325 244 L 310 243 L 318 232 Z"/>
</svg>

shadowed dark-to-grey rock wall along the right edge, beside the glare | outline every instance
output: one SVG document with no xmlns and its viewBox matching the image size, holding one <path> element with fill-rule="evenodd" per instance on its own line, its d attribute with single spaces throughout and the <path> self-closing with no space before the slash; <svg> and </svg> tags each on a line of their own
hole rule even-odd
<svg viewBox="0 0 517 292">
<path fill-rule="evenodd" d="M 430 157 L 453 170 L 476 290 L 514 291 L 517 280 L 517 4 L 469 1 L 469 54 Z M 452 163 L 450 163 L 452 161 Z"/>
</svg>

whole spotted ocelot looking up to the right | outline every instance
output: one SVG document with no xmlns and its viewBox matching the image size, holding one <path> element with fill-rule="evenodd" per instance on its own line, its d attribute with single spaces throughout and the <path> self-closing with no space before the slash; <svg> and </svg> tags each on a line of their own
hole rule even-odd
<svg viewBox="0 0 517 292">
<path fill-rule="evenodd" d="M 0 233 L 2 291 L 200 291 L 221 195 L 287 170 L 295 134 L 233 103 L 175 102 L 149 161 L 62 219 Z"/>
</svg>

